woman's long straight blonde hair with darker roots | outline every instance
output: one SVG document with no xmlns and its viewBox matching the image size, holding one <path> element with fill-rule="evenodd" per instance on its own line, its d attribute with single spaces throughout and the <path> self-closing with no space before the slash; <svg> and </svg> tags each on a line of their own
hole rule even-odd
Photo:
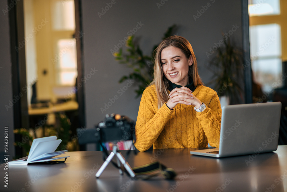
<svg viewBox="0 0 287 192">
<path fill-rule="evenodd" d="M 177 35 L 170 36 L 162 40 L 156 50 L 154 50 L 154 79 L 150 83 L 150 85 L 156 86 L 156 92 L 158 96 L 158 108 L 160 108 L 169 99 L 167 91 L 169 86 L 168 79 L 164 76 L 161 65 L 161 52 L 166 47 L 177 47 L 181 49 L 187 59 L 189 59 L 190 55 L 192 55 L 193 64 L 189 66 L 188 76 L 193 79 L 193 84 L 195 87 L 197 85 L 203 84 L 198 74 L 196 58 L 190 43 L 185 38 Z"/>
</svg>

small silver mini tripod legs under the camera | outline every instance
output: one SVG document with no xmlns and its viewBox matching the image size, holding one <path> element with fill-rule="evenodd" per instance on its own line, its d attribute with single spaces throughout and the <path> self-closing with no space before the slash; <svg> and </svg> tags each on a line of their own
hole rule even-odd
<svg viewBox="0 0 287 192">
<path fill-rule="evenodd" d="M 125 158 L 123 157 L 123 155 L 119 152 L 119 150 L 117 149 L 117 145 L 113 146 L 113 152 L 110 153 L 108 158 L 102 164 L 102 166 L 100 167 L 100 169 L 96 173 L 96 177 L 97 178 L 100 177 L 100 175 L 102 174 L 102 172 L 104 171 L 106 166 L 108 166 L 108 164 L 110 163 L 110 161 L 113 159 L 113 157 L 115 155 L 116 155 L 116 158 L 117 158 L 118 167 L 121 166 L 121 164 L 120 164 L 120 162 L 121 162 L 123 164 L 123 166 L 125 167 L 125 169 L 127 170 L 127 172 L 129 173 L 129 175 L 131 177 L 135 177 L 135 172 L 133 172 L 133 169 L 131 168 L 131 166 L 129 166 L 129 164 L 126 162 Z M 121 170 L 120 168 L 119 168 L 119 172 L 120 172 L 121 175 L 123 174 L 123 170 Z"/>
</svg>

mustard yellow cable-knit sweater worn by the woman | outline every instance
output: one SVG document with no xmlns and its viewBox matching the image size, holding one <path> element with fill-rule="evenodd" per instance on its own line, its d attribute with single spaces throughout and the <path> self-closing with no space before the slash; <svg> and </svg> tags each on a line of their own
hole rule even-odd
<svg viewBox="0 0 287 192">
<path fill-rule="evenodd" d="M 169 91 L 168 91 L 169 93 Z M 195 112 L 193 105 L 177 104 L 170 110 L 166 104 L 158 109 L 155 85 L 144 90 L 135 125 L 135 147 L 154 149 L 219 147 L 221 107 L 217 93 L 198 85 L 193 95 L 206 105 Z"/>
</svg>

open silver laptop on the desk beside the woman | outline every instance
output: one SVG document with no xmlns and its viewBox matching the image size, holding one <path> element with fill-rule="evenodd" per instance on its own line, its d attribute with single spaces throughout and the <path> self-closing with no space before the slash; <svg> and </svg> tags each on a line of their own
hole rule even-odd
<svg viewBox="0 0 287 192">
<path fill-rule="evenodd" d="M 219 148 L 190 153 L 220 158 L 276 151 L 280 115 L 281 102 L 224 106 Z"/>
</svg>

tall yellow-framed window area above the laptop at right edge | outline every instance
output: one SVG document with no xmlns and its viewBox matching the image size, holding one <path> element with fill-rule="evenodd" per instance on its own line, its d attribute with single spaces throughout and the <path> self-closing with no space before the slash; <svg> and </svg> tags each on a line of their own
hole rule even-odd
<svg viewBox="0 0 287 192">
<path fill-rule="evenodd" d="M 249 0 L 249 40 L 253 70 L 253 102 L 273 101 L 282 88 L 287 60 L 286 0 Z"/>
</svg>

